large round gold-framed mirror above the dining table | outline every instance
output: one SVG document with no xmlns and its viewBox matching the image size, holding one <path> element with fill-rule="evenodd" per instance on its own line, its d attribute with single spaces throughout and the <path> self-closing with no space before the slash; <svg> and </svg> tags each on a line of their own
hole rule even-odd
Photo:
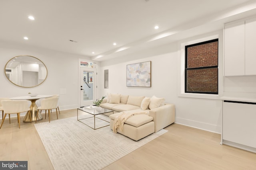
<svg viewBox="0 0 256 170">
<path fill-rule="evenodd" d="M 29 88 L 39 86 L 46 80 L 47 68 L 36 57 L 19 55 L 6 63 L 4 73 L 13 84 Z"/>
</svg>

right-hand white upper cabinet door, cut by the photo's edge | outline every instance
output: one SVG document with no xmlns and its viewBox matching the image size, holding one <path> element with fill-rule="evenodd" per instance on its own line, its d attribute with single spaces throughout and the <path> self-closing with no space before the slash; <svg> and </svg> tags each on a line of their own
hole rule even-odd
<svg viewBox="0 0 256 170">
<path fill-rule="evenodd" d="M 245 75 L 256 75 L 256 18 L 245 21 Z"/>
</svg>

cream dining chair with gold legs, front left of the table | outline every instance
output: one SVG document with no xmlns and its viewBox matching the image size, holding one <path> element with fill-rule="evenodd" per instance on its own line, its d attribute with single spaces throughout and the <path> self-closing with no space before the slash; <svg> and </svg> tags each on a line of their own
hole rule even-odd
<svg viewBox="0 0 256 170">
<path fill-rule="evenodd" d="M 10 114 L 17 114 L 18 117 L 18 123 L 19 123 L 19 128 L 20 128 L 20 113 L 23 113 L 25 111 L 28 111 L 29 113 L 29 118 L 30 118 L 30 123 L 32 122 L 31 120 L 31 114 L 30 114 L 30 107 L 28 107 L 28 101 L 27 100 L 2 100 L 2 107 L 4 109 L 4 118 L 1 123 L 1 127 L 4 123 L 4 119 L 6 115 L 9 115 L 9 123 L 10 121 Z"/>
</svg>

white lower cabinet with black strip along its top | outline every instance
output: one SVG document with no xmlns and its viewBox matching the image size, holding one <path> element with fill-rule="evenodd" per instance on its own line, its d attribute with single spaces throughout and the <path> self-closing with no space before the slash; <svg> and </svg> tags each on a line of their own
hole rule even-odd
<svg viewBox="0 0 256 170">
<path fill-rule="evenodd" d="M 223 143 L 256 152 L 256 103 L 223 102 Z"/>
</svg>

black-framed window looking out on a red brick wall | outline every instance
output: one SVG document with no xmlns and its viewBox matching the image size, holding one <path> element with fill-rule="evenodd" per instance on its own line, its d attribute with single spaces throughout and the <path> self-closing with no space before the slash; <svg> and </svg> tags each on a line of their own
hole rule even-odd
<svg viewBox="0 0 256 170">
<path fill-rule="evenodd" d="M 185 46 L 185 93 L 218 94 L 218 39 Z"/>
</svg>

